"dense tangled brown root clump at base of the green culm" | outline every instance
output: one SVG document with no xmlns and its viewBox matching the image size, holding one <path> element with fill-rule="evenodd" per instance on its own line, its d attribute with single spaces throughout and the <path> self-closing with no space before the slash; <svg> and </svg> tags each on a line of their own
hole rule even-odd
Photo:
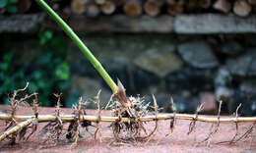
<svg viewBox="0 0 256 153">
<path fill-rule="evenodd" d="M 114 135 L 114 141 L 111 142 L 111 144 L 120 144 L 120 142 L 124 144 L 134 143 L 138 140 L 150 138 L 153 133 L 147 136 L 148 132 L 146 128 L 144 128 L 144 123 L 140 120 L 141 117 L 149 114 L 149 104 L 145 105 L 143 99 L 139 96 L 137 98 L 127 98 L 121 82 L 118 83 L 118 86 L 118 100 L 113 101 L 109 106 L 112 110 L 112 115 L 118 117 L 118 120 L 111 124 Z M 122 118 L 129 118 L 130 122 L 123 123 Z M 146 136 L 141 136 L 141 131 L 144 131 Z"/>
</svg>

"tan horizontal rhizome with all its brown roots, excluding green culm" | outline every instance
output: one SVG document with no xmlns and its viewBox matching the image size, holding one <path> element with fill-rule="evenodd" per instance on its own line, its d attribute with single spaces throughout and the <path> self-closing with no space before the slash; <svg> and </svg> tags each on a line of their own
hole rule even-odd
<svg viewBox="0 0 256 153">
<path fill-rule="evenodd" d="M 175 128 L 177 120 L 190 120 L 191 123 L 188 128 L 187 134 L 196 130 L 197 122 L 212 123 L 211 131 L 208 136 L 198 144 L 211 144 L 211 139 L 218 132 L 221 124 L 233 123 L 235 125 L 235 134 L 229 141 L 218 143 L 236 143 L 237 141 L 248 137 L 256 128 L 256 117 L 239 117 L 238 109 L 235 112 L 235 117 L 222 118 L 221 108 L 222 102 L 219 105 L 217 117 L 206 118 L 200 116 L 199 113 L 203 109 L 201 104 L 196 110 L 195 114 L 178 114 L 172 98 L 170 98 L 170 105 L 173 110 L 172 114 L 159 114 L 159 107 L 157 100 L 153 95 L 154 110 L 150 110 L 150 104 L 145 103 L 144 99 L 140 96 L 126 97 L 125 89 L 121 84 L 118 84 L 119 90 L 117 94 L 112 95 L 105 109 L 110 109 L 112 112 L 111 117 L 101 116 L 100 108 L 100 91 L 96 95 L 97 114 L 96 116 L 87 115 L 85 106 L 87 101 L 80 98 L 78 105 L 73 106 L 73 114 L 64 115 L 61 112 L 61 94 L 54 94 L 57 97 L 56 108 L 53 115 L 39 115 L 38 114 L 38 101 L 37 93 L 25 94 L 29 83 L 25 88 L 14 91 L 9 98 L 10 112 L 9 114 L 0 112 L 0 120 L 6 122 L 6 131 L 0 135 L 0 141 L 4 139 L 8 144 L 15 144 L 22 140 L 28 140 L 32 134 L 38 129 L 38 124 L 47 122 L 47 124 L 40 129 L 38 137 L 42 139 L 43 143 L 47 146 L 57 145 L 61 140 L 72 142 L 72 146 L 77 145 L 79 138 L 82 136 L 81 129 L 88 127 L 95 127 L 95 139 L 102 140 L 101 135 L 101 122 L 110 122 L 110 128 L 113 132 L 113 140 L 110 145 L 115 144 L 147 144 L 154 135 L 158 132 L 160 120 L 170 120 L 170 132 Z M 32 101 L 33 115 L 31 116 L 18 116 L 16 115 L 17 109 L 22 103 Z M 147 122 L 155 122 L 155 128 L 149 130 Z M 239 133 L 239 124 L 243 122 L 250 122 L 252 126 L 249 127 L 244 133 Z M 95 125 L 93 124 L 95 123 Z M 162 138 L 166 138 L 167 133 Z M 161 139 L 162 139 L 161 138 Z M 160 143 L 161 139 L 158 141 Z M 139 142 L 139 143 L 138 143 Z"/>
</svg>

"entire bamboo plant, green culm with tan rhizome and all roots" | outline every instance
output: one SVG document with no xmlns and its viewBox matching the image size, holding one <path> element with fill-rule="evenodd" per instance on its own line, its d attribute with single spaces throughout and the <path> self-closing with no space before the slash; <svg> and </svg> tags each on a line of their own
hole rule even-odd
<svg viewBox="0 0 256 153">
<path fill-rule="evenodd" d="M 34 131 L 37 129 L 37 123 L 47 122 L 48 124 L 42 128 L 42 133 L 46 134 L 47 140 L 51 140 L 52 143 L 57 144 L 60 135 L 65 133 L 66 138 L 74 141 L 76 143 L 79 138 L 79 133 L 81 132 L 81 128 L 87 128 L 92 126 L 93 123 L 96 124 L 95 138 L 96 134 L 99 133 L 100 136 L 100 123 L 101 122 L 110 122 L 111 128 L 113 131 L 114 139 L 116 141 L 138 141 L 138 140 L 146 140 L 146 143 L 151 140 L 151 138 L 156 134 L 159 128 L 160 120 L 169 120 L 171 130 L 175 127 L 176 120 L 189 120 L 191 121 L 189 125 L 188 134 L 191 133 L 196 126 L 196 122 L 206 122 L 213 123 L 216 125 L 214 130 L 212 130 L 208 137 L 203 142 L 209 142 L 213 134 L 215 134 L 220 124 L 230 124 L 233 123 L 236 125 L 236 133 L 233 138 L 229 141 L 236 142 L 243 137 L 246 137 L 248 134 L 252 132 L 252 130 L 256 127 L 256 124 L 253 124 L 251 128 L 249 128 L 244 134 L 238 136 L 238 125 L 237 123 L 255 123 L 256 117 L 238 117 L 238 109 L 240 105 L 236 109 L 236 116 L 230 118 L 221 118 L 221 107 L 222 102 L 220 102 L 218 116 L 216 117 L 204 117 L 198 115 L 200 111 L 203 109 L 203 105 L 200 105 L 196 110 L 195 114 L 178 114 L 176 113 L 176 108 L 174 106 L 172 98 L 170 98 L 170 105 L 172 106 L 173 113 L 170 114 L 159 114 L 159 108 L 157 104 L 157 100 L 153 95 L 154 100 L 154 108 L 155 113 L 150 115 L 148 111 L 148 105 L 143 104 L 140 97 L 127 97 L 125 94 L 125 88 L 118 80 L 118 84 L 116 84 L 111 77 L 107 74 L 101 64 L 96 60 L 96 57 L 92 54 L 92 52 L 88 49 L 88 47 L 83 43 L 83 41 L 77 36 L 77 34 L 72 30 L 70 26 L 68 26 L 43 0 L 35 0 L 39 6 L 41 6 L 47 13 L 50 15 L 53 20 L 58 23 L 58 25 L 70 36 L 70 38 L 78 45 L 81 51 L 86 55 L 88 60 L 93 64 L 96 68 L 97 72 L 101 77 L 104 78 L 105 82 L 109 85 L 112 90 L 113 95 L 110 97 L 108 102 L 109 108 L 112 110 L 112 116 L 106 117 L 101 116 L 101 109 L 99 108 L 99 94 L 98 92 L 96 96 L 96 104 L 97 104 L 97 116 L 87 115 L 85 112 L 84 105 L 86 102 L 83 99 L 79 100 L 79 104 L 74 106 L 74 113 L 71 115 L 61 115 L 60 114 L 60 95 L 55 95 L 58 98 L 57 106 L 54 115 L 39 115 L 38 114 L 38 102 L 37 102 L 37 93 L 33 93 L 32 95 L 26 95 L 25 97 L 18 98 L 18 94 L 24 92 L 29 83 L 25 88 L 14 91 L 12 97 L 9 98 L 11 105 L 11 114 L 5 114 L 0 112 L 0 120 L 7 122 L 6 131 L 0 135 L 0 141 L 5 138 L 9 138 L 12 143 L 16 142 L 17 135 L 26 135 L 27 128 L 31 126 L 32 132 L 26 136 L 25 139 L 28 139 Z M 116 97 L 116 98 L 114 98 Z M 17 108 L 20 103 L 31 99 L 33 101 L 33 115 L 31 116 L 20 116 L 16 115 Z M 111 104 L 110 104 L 111 103 Z M 155 122 L 155 128 L 148 133 L 147 129 L 144 127 L 144 123 L 146 122 Z M 66 132 L 63 128 L 64 124 L 69 124 L 69 127 Z M 145 136 L 141 136 L 141 132 L 145 132 Z M 127 134 L 128 133 L 128 134 Z M 25 136 L 24 136 L 25 137 Z"/>
</svg>

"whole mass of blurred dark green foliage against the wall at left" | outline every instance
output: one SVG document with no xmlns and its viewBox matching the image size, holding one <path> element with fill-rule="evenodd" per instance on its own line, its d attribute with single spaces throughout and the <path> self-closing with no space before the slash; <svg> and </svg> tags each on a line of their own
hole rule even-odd
<svg viewBox="0 0 256 153">
<path fill-rule="evenodd" d="M 27 81 L 30 82 L 30 91 L 39 93 L 38 100 L 43 106 L 53 106 L 54 103 L 49 101 L 50 95 L 66 92 L 70 87 L 70 66 L 65 61 L 66 39 L 43 29 L 38 37 L 43 51 L 31 64 L 17 66 L 13 52 L 6 52 L 0 59 L 0 103 L 6 99 L 7 93 L 24 87 Z"/>
</svg>

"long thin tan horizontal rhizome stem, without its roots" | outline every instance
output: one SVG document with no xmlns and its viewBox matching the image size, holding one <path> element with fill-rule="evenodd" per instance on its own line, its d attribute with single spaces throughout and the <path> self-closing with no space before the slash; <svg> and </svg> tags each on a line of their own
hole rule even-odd
<svg viewBox="0 0 256 153">
<path fill-rule="evenodd" d="M 62 121 L 70 122 L 74 120 L 74 115 L 62 115 L 59 118 Z M 170 114 L 159 114 L 158 117 L 156 116 L 146 116 L 146 117 L 141 117 L 140 121 L 141 122 L 152 122 L 157 120 L 170 120 L 173 119 L 174 115 L 172 113 Z M 28 119 L 32 119 L 34 116 L 14 116 L 14 119 L 17 122 L 24 122 L 27 121 Z M 118 117 L 106 117 L 106 116 L 101 116 L 100 120 L 98 121 L 97 116 L 91 116 L 91 115 L 85 115 L 80 118 L 81 120 L 85 121 L 91 121 L 91 122 L 117 122 L 119 121 Z M 175 115 L 176 120 L 189 120 L 193 121 L 195 120 L 195 115 L 194 114 L 176 114 Z M 0 114 L 0 120 L 5 120 L 9 121 L 12 120 L 11 115 L 7 114 Z M 38 115 L 37 121 L 38 122 L 50 122 L 50 121 L 55 121 L 56 116 L 54 115 Z M 198 116 L 196 119 L 198 122 L 205 122 L 205 123 L 218 123 L 218 117 L 205 117 L 205 116 Z M 129 118 L 122 118 L 121 122 L 123 123 L 129 123 L 131 122 Z M 220 123 L 222 124 L 230 124 L 230 123 L 248 123 L 248 122 L 256 122 L 256 117 L 231 117 L 231 118 L 226 118 L 226 117 L 221 117 Z"/>
</svg>

